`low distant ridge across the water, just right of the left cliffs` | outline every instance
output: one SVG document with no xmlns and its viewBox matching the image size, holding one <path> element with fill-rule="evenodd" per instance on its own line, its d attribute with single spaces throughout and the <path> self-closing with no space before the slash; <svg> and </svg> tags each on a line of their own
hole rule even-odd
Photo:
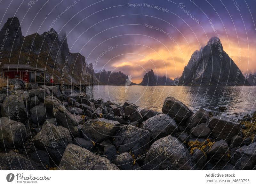
<svg viewBox="0 0 256 186">
<path fill-rule="evenodd" d="M 103 69 L 95 73 L 96 78 L 105 85 L 125 85 L 129 81 L 128 75 L 119 72 L 111 72 Z"/>
</svg>

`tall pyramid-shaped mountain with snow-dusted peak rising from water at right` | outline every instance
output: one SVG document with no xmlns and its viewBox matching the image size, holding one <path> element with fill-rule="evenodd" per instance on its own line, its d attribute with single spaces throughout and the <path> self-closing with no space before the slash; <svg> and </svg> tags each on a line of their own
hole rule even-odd
<svg viewBox="0 0 256 186">
<path fill-rule="evenodd" d="M 179 79 L 183 86 L 249 85 L 240 69 L 223 50 L 220 39 L 212 37 L 205 47 L 196 50 Z"/>
</svg>

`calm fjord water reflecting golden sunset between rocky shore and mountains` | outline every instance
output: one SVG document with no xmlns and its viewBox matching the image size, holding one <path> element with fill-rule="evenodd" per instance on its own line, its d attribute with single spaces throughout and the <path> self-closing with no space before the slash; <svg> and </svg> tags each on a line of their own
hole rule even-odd
<svg viewBox="0 0 256 186">
<path fill-rule="evenodd" d="M 88 94 L 88 91 L 86 92 Z M 94 86 L 94 99 L 102 98 L 123 105 L 125 101 L 141 108 L 162 111 L 164 99 L 172 96 L 185 103 L 192 111 L 199 108 L 217 111 L 219 106 L 227 106 L 225 115 L 233 113 L 249 114 L 256 111 L 256 87 L 181 87 L 181 86 Z"/>
</svg>

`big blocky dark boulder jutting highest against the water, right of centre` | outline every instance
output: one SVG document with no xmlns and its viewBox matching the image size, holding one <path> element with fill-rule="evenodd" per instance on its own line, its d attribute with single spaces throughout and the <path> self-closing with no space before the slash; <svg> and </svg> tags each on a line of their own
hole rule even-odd
<svg viewBox="0 0 256 186">
<path fill-rule="evenodd" d="M 176 122 L 187 120 L 193 112 L 174 97 L 166 97 L 162 108 L 163 113 L 169 114 Z"/>
</svg>

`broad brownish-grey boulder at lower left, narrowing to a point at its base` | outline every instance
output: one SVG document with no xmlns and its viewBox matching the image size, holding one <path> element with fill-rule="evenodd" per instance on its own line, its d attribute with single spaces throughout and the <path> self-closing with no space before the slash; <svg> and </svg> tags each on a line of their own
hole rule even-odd
<svg viewBox="0 0 256 186">
<path fill-rule="evenodd" d="M 33 138 L 33 142 L 37 148 L 45 149 L 51 158 L 58 163 L 67 145 L 72 142 L 72 137 L 67 128 L 46 123 Z"/>
</svg>

